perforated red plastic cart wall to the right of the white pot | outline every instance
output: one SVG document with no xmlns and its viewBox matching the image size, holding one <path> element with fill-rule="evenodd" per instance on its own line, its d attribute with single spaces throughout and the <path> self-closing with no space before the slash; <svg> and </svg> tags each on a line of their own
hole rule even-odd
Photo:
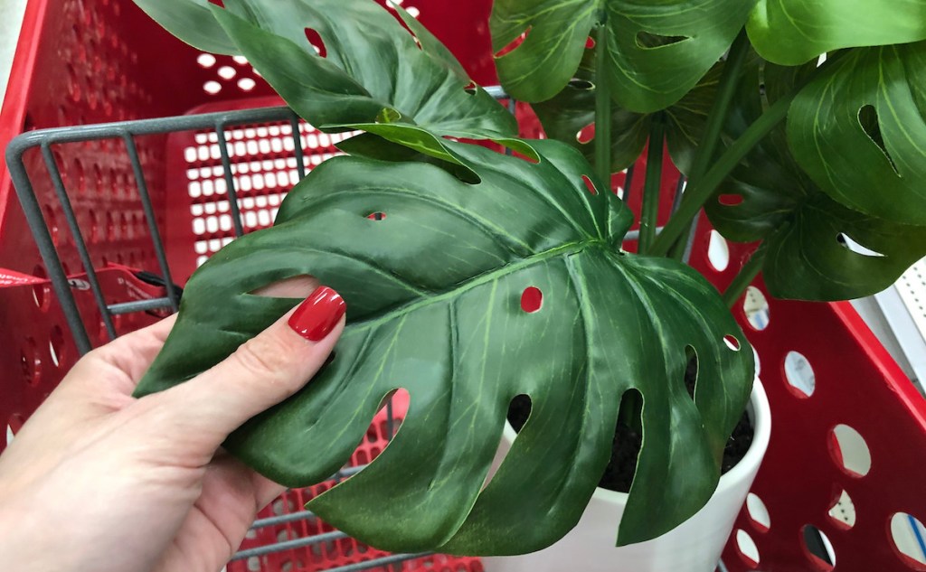
<svg viewBox="0 0 926 572">
<path fill-rule="evenodd" d="M 730 245 L 729 267 L 719 271 L 707 256 L 711 232 L 701 226 L 693 264 L 725 287 L 751 249 Z M 771 441 L 752 506 L 737 519 L 724 554 L 727 566 L 926 570 L 916 539 L 900 547 L 918 559 L 895 543 L 911 530 L 907 515 L 926 521 L 922 397 L 848 303 L 772 300 L 761 280 L 754 286 L 768 298 L 767 319 L 750 322 L 743 305 L 735 314 L 759 357 Z M 835 566 L 811 553 L 808 527 L 830 543 Z"/>
</svg>

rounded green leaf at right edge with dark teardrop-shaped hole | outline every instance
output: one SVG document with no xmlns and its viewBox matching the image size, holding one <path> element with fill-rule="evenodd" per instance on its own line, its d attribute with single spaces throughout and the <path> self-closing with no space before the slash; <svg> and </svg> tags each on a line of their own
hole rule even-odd
<svg viewBox="0 0 926 572">
<path fill-rule="evenodd" d="M 856 48 L 795 99 L 797 162 L 837 202 L 926 226 L 926 42 Z"/>
</svg>

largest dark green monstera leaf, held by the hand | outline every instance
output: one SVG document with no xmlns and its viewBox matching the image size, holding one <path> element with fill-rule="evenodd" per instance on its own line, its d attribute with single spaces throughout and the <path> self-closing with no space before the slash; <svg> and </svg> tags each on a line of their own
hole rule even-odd
<svg viewBox="0 0 926 572">
<path fill-rule="evenodd" d="M 227 446 L 269 478 L 305 486 L 343 466 L 383 397 L 407 389 L 407 417 L 386 450 L 309 504 L 332 525 L 392 551 L 544 548 L 582 515 L 626 392 L 642 396 L 645 445 L 619 542 L 678 525 L 714 491 L 750 392 L 742 331 L 694 270 L 620 252 L 632 216 L 612 193 L 588 191 L 591 168 L 574 150 L 532 142 L 533 164 L 448 145 L 478 183 L 350 156 L 313 170 L 272 229 L 194 274 L 137 394 L 231 354 L 298 303 L 249 292 L 311 274 L 348 305 L 336 356 Z M 536 311 L 520 305 L 526 289 L 543 297 Z M 519 394 L 531 397 L 531 417 L 483 490 Z"/>
</svg>

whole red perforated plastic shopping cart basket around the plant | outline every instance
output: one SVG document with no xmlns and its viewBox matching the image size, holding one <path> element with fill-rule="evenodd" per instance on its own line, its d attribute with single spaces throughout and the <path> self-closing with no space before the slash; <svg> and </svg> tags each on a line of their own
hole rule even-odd
<svg viewBox="0 0 926 572">
<path fill-rule="evenodd" d="M 406 0 L 403 4 L 419 10 L 420 20 L 448 44 L 476 81 L 494 83 L 486 24 L 489 0 Z M 278 102 L 244 60 L 200 54 L 161 31 L 131 2 L 31 0 L 0 116 L 0 143 L 39 128 Z M 519 117 L 534 125 L 526 108 L 519 109 Z M 333 152 L 327 135 L 307 126 L 301 129 L 308 167 Z M 246 230 L 269 225 L 294 180 L 291 150 L 282 146 L 286 133 L 281 130 L 284 126 L 265 125 L 231 133 L 232 145 L 240 143 L 244 154 L 254 159 L 253 170 L 239 173 L 241 180 L 251 183 L 240 196 Z M 216 170 L 220 167 L 216 146 L 206 132 L 138 141 L 158 228 L 180 283 L 204 256 L 233 236 L 227 205 L 217 193 L 221 176 Z M 156 295 L 156 287 L 137 280 L 132 272 L 133 268 L 157 272 L 158 266 L 125 148 L 111 141 L 60 145 L 56 162 L 72 191 L 107 301 Z M 28 156 L 27 165 L 56 248 L 66 271 L 76 279 L 74 293 L 83 321 L 92 340 L 101 342 L 106 330 L 93 297 L 81 290 L 81 264 L 41 157 Z M 668 167 L 667 173 L 671 174 Z M 666 193 L 675 192 L 677 178 L 677 173 L 674 179 L 667 177 Z M 633 183 L 632 205 L 641 195 L 640 179 Z M 615 184 L 622 185 L 622 177 Z M 722 287 L 732 280 L 748 248 L 715 242 L 729 252 L 724 267 L 708 259 L 710 240 L 711 230 L 702 220 L 692 262 Z M 6 374 L 0 379 L 0 427 L 6 423 L 8 433 L 19 429 L 77 357 L 46 276 L 6 168 L 0 166 L 0 316 L 6 325 L 0 329 L 0 371 Z M 760 282 L 756 286 L 764 292 Z M 832 569 L 814 555 L 813 547 L 808 548 L 805 539 L 814 535 L 805 531 L 811 529 L 819 530 L 831 544 L 837 570 L 926 570 L 916 559 L 926 555 L 901 553 L 892 532 L 892 522 L 907 515 L 926 521 L 926 495 L 921 492 L 926 482 L 926 465 L 921 461 L 926 450 L 926 404 L 909 380 L 850 305 L 770 301 L 770 321 L 763 330 L 750 325 L 742 307 L 736 312 L 756 347 L 774 420 L 769 453 L 750 497 L 752 510 L 745 509 L 738 519 L 724 555 L 726 566 L 736 572 Z M 116 327 L 124 332 L 153 319 L 126 315 L 116 318 Z M 805 359 L 800 363 L 812 367 L 815 374 L 809 395 L 801 389 L 807 386 L 789 381 L 793 371 L 785 364 L 791 352 L 802 354 Z M 384 446 L 382 428 L 376 428 L 374 424 L 370 434 L 376 442 L 364 447 Z M 851 452 L 867 450 L 869 459 L 844 454 L 840 443 L 849 437 L 864 443 L 856 443 Z M 5 445 L 0 441 L 0 449 Z M 372 453 L 365 452 L 368 457 Z M 355 458 L 360 454 L 364 449 Z M 288 493 L 261 516 L 298 511 L 317 491 Z M 832 510 L 837 500 L 845 504 L 846 497 L 855 507 L 851 526 Z M 243 548 L 329 530 L 325 526 L 304 520 L 259 528 Z M 230 571 L 317 570 L 381 554 L 349 539 L 314 546 L 237 561 Z M 481 570 L 478 561 L 440 556 L 393 566 Z"/>
</svg>

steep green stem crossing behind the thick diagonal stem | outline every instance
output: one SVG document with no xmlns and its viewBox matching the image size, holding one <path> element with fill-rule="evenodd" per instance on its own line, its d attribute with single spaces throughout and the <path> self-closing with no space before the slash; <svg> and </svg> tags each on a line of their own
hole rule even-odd
<svg viewBox="0 0 926 572">
<path fill-rule="evenodd" d="M 739 85 L 740 69 L 745 64 L 746 56 L 749 56 L 749 37 L 746 35 L 745 28 L 740 31 L 730 47 L 730 54 L 727 56 L 726 64 L 723 67 L 723 74 L 720 77 L 720 88 L 717 93 L 717 99 L 711 106 L 710 114 L 707 116 L 707 127 L 701 143 L 698 145 L 697 152 L 694 155 L 694 164 L 689 173 L 689 185 L 697 183 L 704 177 L 707 172 L 707 166 L 717 155 L 717 146 L 720 144 L 720 133 L 723 131 L 723 124 L 727 120 L 727 112 L 733 101 L 733 95 Z M 693 219 L 682 231 L 681 238 L 675 242 L 669 255 L 676 260 L 681 260 L 688 248 L 691 229 L 694 226 Z"/>
</svg>

